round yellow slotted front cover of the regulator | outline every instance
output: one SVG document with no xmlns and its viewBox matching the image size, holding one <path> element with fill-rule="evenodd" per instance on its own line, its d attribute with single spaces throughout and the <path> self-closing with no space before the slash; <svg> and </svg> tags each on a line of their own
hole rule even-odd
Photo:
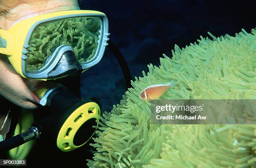
<svg viewBox="0 0 256 168">
<path fill-rule="evenodd" d="M 77 108 L 64 122 L 64 124 L 62 125 L 59 131 L 59 134 L 57 137 L 58 148 L 61 151 L 68 152 L 76 148 L 79 148 L 83 146 L 85 143 L 87 143 L 87 141 L 89 141 L 90 138 L 92 138 L 92 136 L 94 135 L 96 128 L 95 128 L 95 131 L 92 133 L 92 135 L 89 135 L 90 138 L 85 140 L 85 142 L 79 146 L 76 146 L 74 144 L 74 137 L 77 131 L 79 130 L 79 128 L 83 124 L 87 124 L 86 122 L 89 121 L 90 119 L 95 119 L 99 121 L 99 117 L 100 117 L 100 106 L 95 102 L 88 102 L 86 104 L 83 104 L 79 108 Z M 89 127 L 92 127 L 92 125 L 88 124 L 88 128 Z M 86 138 L 86 136 L 84 137 Z"/>
</svg>

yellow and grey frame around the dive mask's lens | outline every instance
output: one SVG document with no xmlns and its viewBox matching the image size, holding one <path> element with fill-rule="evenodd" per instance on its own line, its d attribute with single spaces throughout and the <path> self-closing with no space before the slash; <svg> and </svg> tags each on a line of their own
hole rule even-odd
<svg viewBox="0 0 256 168">
<path fill-rule="evenodd" d="M 110 35 L 108 33 L 108 19 L 102 12 L 92 10 L 67 10 L 38 15 L 22 20 L 10 27 L 9 30 L 0 29 L 0 53 L 8 56 L 10 63 L 20 76 L 30 79 L 47 80 L 49 79 L 47 76 L 48 72 L 29 73 L 26 71 L 26 54 L 28 53 L 29 47 L 28 42 L 33 30 L 38 25 L 53 20 L 72 17 L 99 17 L 101 19 L 101 37 L 98 49 L 90 62 L 82 64 L 82 72 L 84 72 L 102 59 L 105 47 L 108 45 L 107 41 L 109 40 L 108 36 Z"/>
</svg>

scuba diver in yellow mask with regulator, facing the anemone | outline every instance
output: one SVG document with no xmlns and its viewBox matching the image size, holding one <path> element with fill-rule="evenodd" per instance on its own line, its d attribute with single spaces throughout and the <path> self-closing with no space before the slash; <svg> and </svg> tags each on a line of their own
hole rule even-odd
<svg viewBox="0 0 256 168">
<path fill-rule="evenodd" d="M 79 74 L 108 46 L 131 80 L 106 15 L 77 0 L 0 0 L 0 28 L 0 159 L 83 166 L 101 106 L 80 99 Z"/>
</svg>

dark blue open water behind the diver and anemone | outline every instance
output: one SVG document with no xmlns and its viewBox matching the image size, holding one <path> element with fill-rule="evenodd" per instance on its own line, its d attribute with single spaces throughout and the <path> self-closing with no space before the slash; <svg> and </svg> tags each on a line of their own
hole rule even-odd
<svg viewBox="0 0 256 168">
<path fill-rule="evenodd" d="M 110 39 L 120 49 L 132 77 L 159 65 L 159 57 L 171 57 L 174 44 L 180 48 L 211 32 L 215 37 L 256 27 L 256 1 L 248 0 L 82 0 L 82 10 L 107 15 Z M 253 18 L 254 17 L 254 18 Z M 97 97 L 102 111 L 110 112 L 125 93 L 118 62 L 107 48 L 103 59 L 81 75 L 83 98 Z"/>
</svg>

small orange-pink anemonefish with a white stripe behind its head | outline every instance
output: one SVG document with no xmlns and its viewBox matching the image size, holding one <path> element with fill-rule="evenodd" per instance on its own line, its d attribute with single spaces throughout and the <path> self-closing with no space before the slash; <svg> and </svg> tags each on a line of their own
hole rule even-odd
<svg viewBox="0 0 256 168">
<path fill-rule="evenodd" d="M 177 84 L 175 80 L 172 80 L 168 84 L 155 84 L 146 87 L 141 91 L 141 94 L 139 95 L 140 99 L 147 99 L 147 100 L 152 100 L 152 99 L 158 99 L 161 97 L 170 87 L 174 87 Z"/>
</svg>

